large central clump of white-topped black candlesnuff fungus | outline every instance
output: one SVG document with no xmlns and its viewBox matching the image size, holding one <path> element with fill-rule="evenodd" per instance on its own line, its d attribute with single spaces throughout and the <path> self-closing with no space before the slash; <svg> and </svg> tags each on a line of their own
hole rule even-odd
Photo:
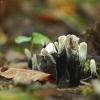
<svg viewBox="0 0 100 100">
<path fill-rule="evenodd" d="M 69 76 L 69 87 L 76 87 L 79 85 L 87 55 L 87 44 L 85 42 L 79 44 L 78 42 L 79 38 L 75 35 L 63 35 L 53 43 L 49 43 L 46 47 L 43 47 L 40 51 L 39 55 L 42 57 L 43 63 L 47 65 L 47 62 L 51 62 L 51 65 L 55 67 L 57 85 L 60 78 L 65 76 L 66 72 L 68 72 Z M 43 67 L 43 69 L 42 67 L 43 66 L 40 66 L 40 71 L 44 69 L 45 72 L 45 70 L 48 69 L 48 66 L 45 66 L 45 68 Z"/>
</svg>

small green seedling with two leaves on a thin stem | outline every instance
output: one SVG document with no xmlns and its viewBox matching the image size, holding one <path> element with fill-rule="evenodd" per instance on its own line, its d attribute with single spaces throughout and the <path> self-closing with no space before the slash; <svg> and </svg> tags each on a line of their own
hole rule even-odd
<svg viewBox="0 0 100 100">
<path fill-rule="evenodd" d="M 30 51 L 32 52 L 32 49 L 34 47 L 34 44 L 41 44 L 41 40 L 45 39 L 47 43 L 50 42 L 50 39 L 38 32 L 33 32 L 32 37 L 27 37 L 27 36 L 18 36 L 15 39 L 15 43 L 20 44 L 23 42 L 30 42 Z"/>
</svg>

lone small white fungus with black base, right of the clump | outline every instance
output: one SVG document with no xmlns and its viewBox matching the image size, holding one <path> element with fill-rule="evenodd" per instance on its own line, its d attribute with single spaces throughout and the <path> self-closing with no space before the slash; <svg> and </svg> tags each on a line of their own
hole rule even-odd
<svg viewBox="0 0 100 100">
<path fill-rule="evenodd" d="M 97 78 L 96 63 L 94 59 L 90 60 L 90 71 L 93 79 Z"/>
</svg>

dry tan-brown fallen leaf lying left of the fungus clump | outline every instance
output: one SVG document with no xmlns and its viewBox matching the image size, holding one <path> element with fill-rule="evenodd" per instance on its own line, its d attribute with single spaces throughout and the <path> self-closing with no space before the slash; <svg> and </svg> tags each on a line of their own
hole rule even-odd
<svg viewBox="0 0 100 100">
<path fill-rule="evenodd" d="M 17 68 L 9 68 L 5 72 L 1 72 L 0 76 L 3 76 L 7 79 L 9 78 L 16 78 L 20 77 L 25 80 L 31 80 L 33 82 L 54 82 L 55 78 L 51 74 L 34 71 L 34 70 L 27 70 L 27 69 L 17 69 Z"/>
</svg>

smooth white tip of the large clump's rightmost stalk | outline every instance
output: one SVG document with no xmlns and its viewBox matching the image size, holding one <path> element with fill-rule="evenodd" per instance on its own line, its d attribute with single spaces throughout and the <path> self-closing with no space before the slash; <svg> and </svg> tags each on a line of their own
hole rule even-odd
<svg viewBox="0 0 100 100">
<path fill-rule="evenodd" d="M 81 61 L 85 61 L 86 55 L 87 55 L 87 44 L 85 42 L 82 42 L 79 45 L 79 59 Z"/>
</svg>

